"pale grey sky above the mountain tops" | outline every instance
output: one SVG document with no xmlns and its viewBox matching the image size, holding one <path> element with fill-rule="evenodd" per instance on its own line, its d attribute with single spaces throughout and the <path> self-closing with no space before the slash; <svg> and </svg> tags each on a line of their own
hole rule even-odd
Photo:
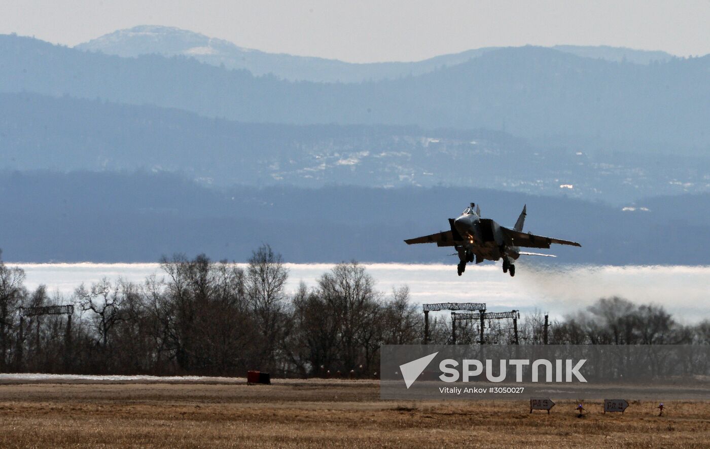
<svg viewBox="0 0 710 449">
<path fill-rule="evenodd" d="M 51 43 L 146 24 L 350 62 L 526 44 L 710 53 L 710 0 L 0 0 L 0 33 Z"/>
</svg>

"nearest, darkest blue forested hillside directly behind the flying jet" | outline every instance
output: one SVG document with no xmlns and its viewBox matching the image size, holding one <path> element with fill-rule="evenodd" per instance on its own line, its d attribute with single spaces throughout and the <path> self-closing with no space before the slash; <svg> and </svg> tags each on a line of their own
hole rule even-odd
<svg viewBox="0 0 710 449">
<path fill-rule="evenodd" d="M 503 226 L 527 204 L 526 230 L 582 244 L 549 251 L 563 263 L 704 264 L 710 248 L 707 214 L 684 213 L 706 211 L 707 194 L 648 198 L 640 206 L 650 210 L 623 211 L 468 187 L 214 189 L 146 172 L 4 172 L 0 229 L 6 259 L 25 262 L 231 260 L 254 242 L 277 246 L 289 262 L 450 262 L 445 248 L 403 240 L 447 229 L 470 201 Z"/>
</svg>

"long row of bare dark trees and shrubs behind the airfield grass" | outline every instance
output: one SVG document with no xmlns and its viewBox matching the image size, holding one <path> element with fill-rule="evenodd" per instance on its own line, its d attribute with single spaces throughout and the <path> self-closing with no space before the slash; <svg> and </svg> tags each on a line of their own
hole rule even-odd
<svg viewBox="0 0 710 449">
<path fill-rule="evenodd" d="M 380 345 L 422 343 L 422 314 L 408 287 L 379 292 L 357 262 L 293 293 L 269 245 L 244 268 L 205 255 L 164 257 L 160 266 L 162 278 L 102 279 L 64 298 L 43 285 L 29 292 L 23 270 L 0 258 L 0 372 L 371 377 Z M 67 303 L 72 314 L 31 313 Z M 475 343 L 477 326 L 457 322 L 457 342 Z M 430 343 L 450 343 L 451 331 L 449 318 L 435 317 Z M 616 297 L 548 331 L 550 344 L 710 344 L 710 321 L 683 326 L 661 306 Z M 542 315 L 523 316 L 518 332 L 520 344 L 542 344 Z M 485 335 L 488 344 L 514 341 L 508 321 L 489 321 Z"/>
</svg>

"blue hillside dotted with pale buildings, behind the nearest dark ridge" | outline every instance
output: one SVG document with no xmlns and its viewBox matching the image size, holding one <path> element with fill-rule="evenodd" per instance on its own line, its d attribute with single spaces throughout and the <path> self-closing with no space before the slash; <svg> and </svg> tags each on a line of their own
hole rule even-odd
<svg viewBox="0 0 710 449">
<path fill-rule="evenodd" d="M 488 187 L 620 207 L 710 191 L 710 155 L 548 148 L 485 129 L 243 123 L 28 93 L 0 94 L 0 145 L 0 170 L 168 171 L 218 187 Z"/>
</svg>

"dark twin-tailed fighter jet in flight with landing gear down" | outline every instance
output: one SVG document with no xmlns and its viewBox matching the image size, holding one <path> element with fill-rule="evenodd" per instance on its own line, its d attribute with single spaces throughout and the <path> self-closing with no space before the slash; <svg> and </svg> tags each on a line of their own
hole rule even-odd
<svg viewBox="0 0 710 449">
<path fill-rule="evenodd" d="M 560 240 L 559 238 L 542 237 L 523 232 L 527 204 L 523 206 L 518 221 L 512 229 L 501 226 L 490 218 L 481 218 L 481 209 L 471 203 L 464 209 L 459 218 L 449 218 L 451 231 L 444 231 L 424 237 L 410 238 L 405 243 L 436 243 L 437 246 L 453 246 L 459 256 L 459 276 L 466 271 L 466 263 L 481 263 L 484 260 L 503 259 L 503 272 L 515 276 L 515 260 L 521 255 L 541 255 L 555 257 L 550 254 L 526 253 L 525 248 L 550 248 L 552 243 L 559 245 L 581 246 L 577 242 Z"/>
</svg>

